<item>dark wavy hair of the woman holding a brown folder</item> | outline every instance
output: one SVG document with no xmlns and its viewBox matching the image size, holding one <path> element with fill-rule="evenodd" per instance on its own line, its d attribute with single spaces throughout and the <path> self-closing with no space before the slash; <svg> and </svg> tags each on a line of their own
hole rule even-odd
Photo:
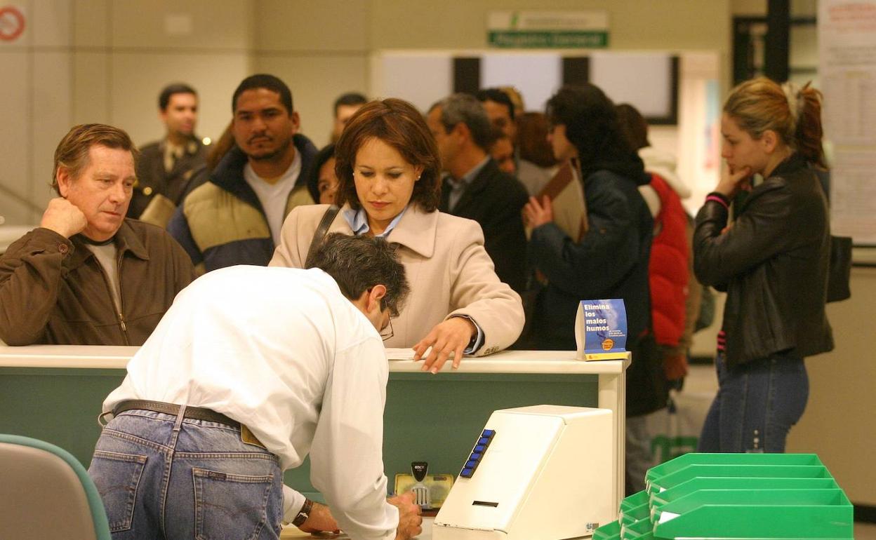
<svg viewBox="0 0 876 540">
<path fill-rule="evenodd" d="M 621 163 L 633 153 L 618 124 L 614 103 L 598 87 L 584 83 L 564 86 L 548 100 L 552 124 L 566 126 L 566 138 L 574 144 L 584 176 L 600 163 Z"/>
</svg>

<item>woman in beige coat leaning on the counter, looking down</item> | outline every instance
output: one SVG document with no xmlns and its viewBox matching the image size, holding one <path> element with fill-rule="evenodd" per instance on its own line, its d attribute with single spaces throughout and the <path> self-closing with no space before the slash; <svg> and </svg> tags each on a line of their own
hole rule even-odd
<svg viewBox="0 0 876 540">
<path fill-rule="evenodd" d="M 413 347 L 423 370 L 437 373 L 450 356 L 456 368 L 463 354 L 495 353 L 518 338 L 523 305 L 496 276 L 480 226 L 437 210 L 441 160 L 413 105 L 387 99 L 359 109 L 338 141 L 336 173 L 342 207 L 328 232 L 397 243 L 411 284 L 387 347 Z M 271 265 L 304 268 L 328 209 L 294 208 Z"/>
</svg>

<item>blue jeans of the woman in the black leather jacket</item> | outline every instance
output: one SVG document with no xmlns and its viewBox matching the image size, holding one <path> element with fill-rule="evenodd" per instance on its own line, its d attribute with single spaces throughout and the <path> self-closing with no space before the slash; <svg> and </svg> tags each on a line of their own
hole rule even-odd
<svg viewBox="0 0 876 540">
<path fill-rule="evenodd" d="M 802 358 L 771 357 L 728 369 L 715 360 L 717 396 L 698 452 L 785 452 L 785 439 L 809 400 Z"/>
</svg>

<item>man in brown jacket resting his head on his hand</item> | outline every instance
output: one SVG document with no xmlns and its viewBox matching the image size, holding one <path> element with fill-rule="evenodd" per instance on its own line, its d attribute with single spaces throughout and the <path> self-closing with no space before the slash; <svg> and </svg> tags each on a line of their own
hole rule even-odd
<svg viewBox="0 0 876 540">
<path fill-rule="evenodd" d="M 194 279 L 163 228 L 125 219 L 137 149 L 123 130 L 75 126 L 54 154 L 39 228 L 0 256 L 0 340 L 142 345 Z"/>
</svg>

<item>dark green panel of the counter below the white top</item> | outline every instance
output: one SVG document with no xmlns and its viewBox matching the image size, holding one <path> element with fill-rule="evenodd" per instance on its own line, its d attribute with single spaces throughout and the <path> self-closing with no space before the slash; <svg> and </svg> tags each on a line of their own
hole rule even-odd
<svg viewBox="0 0 876 540">
<path fill-rule="evenodd" d="M 39 438 L 88 466 L 100 435 L 101 403 L 121 369 L 0 368 L 0 433 Z M 411 461 L 456 475 L 493 410 L 538 405 L 597 406 L 597 375 L 391 373 L 386 390 L 384 462 L 389 487 Z M 310 494 L 309 464 L 286 483 Z"/>
</svg>

